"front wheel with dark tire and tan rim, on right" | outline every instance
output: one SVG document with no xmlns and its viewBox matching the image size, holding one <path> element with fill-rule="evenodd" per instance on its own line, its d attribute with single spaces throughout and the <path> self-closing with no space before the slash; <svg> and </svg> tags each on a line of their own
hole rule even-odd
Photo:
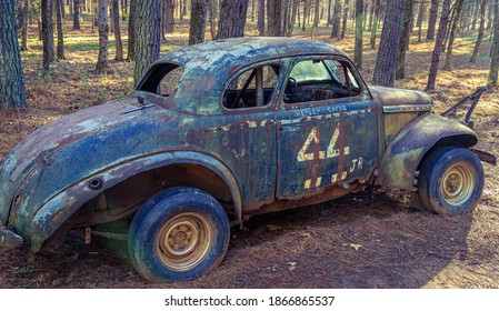
<svg viewBox="0 0 499 311">
<path fill-rule="evenodd" d="M 473 152 L 446 147 L 423 162 L 418 179 L 419 199 L 429 211 L 462 214 L 477 207 L 483 183 L 483 168 Z"/>
</svg>

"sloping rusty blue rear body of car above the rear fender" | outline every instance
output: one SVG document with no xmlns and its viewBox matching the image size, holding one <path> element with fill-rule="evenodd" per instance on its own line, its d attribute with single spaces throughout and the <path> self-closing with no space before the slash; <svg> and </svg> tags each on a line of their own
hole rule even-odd
<svg viewBox="0 0 499 311">
<path fill-rule="evenodd" d="M 22 205 L 18 209 L 36 209 L 102 165 L 144 152 L 147 148 L 141 143 L 148 141 L 149 131 L 158 128 L 150 114 L 158 112 L 167 113 L 158 107 L 138 106 L 137 98 L 121 98 L 36 130 L 9 153 L 1 167 L 0 221 L 7 223 L 10 207 L 17 201 Z M 164 118 L 171 119 L 168 114 Z M 130 152 L 134 146 L 137 152 Z M 24 198 L 30 200 L 23 201 Z"/>
</svg>

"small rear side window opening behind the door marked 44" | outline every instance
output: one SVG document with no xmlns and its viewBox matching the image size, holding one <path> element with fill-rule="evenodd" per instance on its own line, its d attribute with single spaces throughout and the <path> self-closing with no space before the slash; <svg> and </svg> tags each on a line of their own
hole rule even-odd
<svg viewBox="0 0 499 311">
<path fill-rule="evenodd" d="M 223 92 L 223 107 L 240 109 L 269 104 L 276 90 L 279 71 L 277 64 L 265 64 L 233 78 Z"/>
</svg>

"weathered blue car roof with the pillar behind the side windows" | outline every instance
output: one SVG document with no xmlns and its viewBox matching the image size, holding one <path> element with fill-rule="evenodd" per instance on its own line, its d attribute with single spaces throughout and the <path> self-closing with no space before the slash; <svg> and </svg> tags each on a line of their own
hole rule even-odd
<svg viewBox="0 0 499 311">
<path fill-rule="evenodd" d="M 169 52 L 154 61 L 149 72 L 163 63 L 180 64 L 183 76 L 174 94 L 179 109 L 191 113 L 218 114 L 221 112 L 217 110 L 220 109 L 224 83 L 237 70 L 271 59 L 319 54 L 346 57 L 337 47 L 321 41 L 243 37 L 193 44 Z"/>
</svg>

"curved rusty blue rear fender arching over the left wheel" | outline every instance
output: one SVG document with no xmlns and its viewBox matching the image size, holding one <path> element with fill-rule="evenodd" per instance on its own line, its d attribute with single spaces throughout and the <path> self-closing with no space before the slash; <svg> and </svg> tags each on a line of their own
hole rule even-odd
<svg viewBox="0 0 499 311">
<path fill-rule="evenodd" d="M 63 225 L 82 207 L 82 203 L 94 198 L 103 190 L 122 182 L 132 174 L 169 164 L 199 164 L 218 174 L 229 188 L 236 215 L 241 220 L 241 193 L 231 171 L 221 161 L 209 154 L 193 151 L 173 151 L 118 164 L 92 174 L 51 198 L 37 211 L 31 221 L 29 231 L 31 249 L 33 251 L 40 250 L 43 242 Z M 90 183 L 96 179 L 100 179 L 102 183 L 98 191 L 92 189 Z"/>
</svg>

